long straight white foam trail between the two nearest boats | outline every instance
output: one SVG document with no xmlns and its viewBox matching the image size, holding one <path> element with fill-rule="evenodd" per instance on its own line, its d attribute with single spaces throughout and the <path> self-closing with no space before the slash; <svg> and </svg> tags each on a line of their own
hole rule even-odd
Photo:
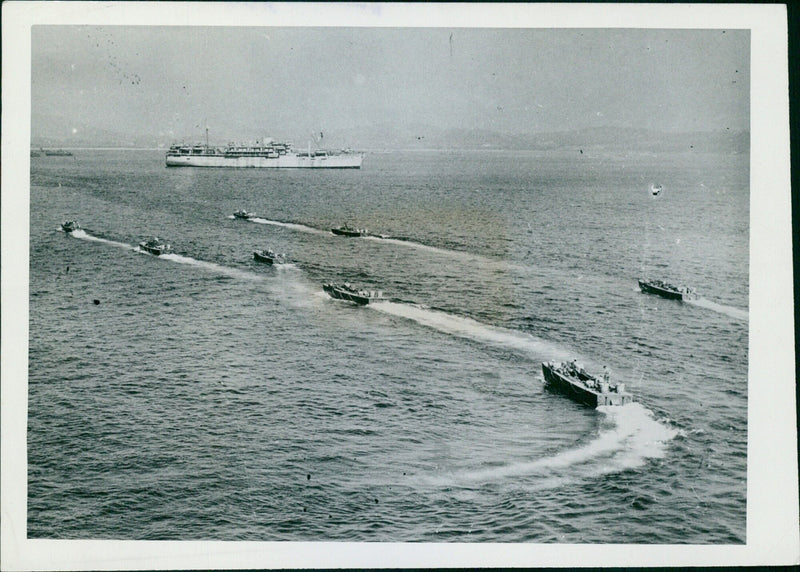
<svg viewBox="0 0 800 572">
<path fill-rule="evenodd" d="M 550 342 L 530 334 L 489 326 L 471 318 L 453 316 L 446 312 L 423 308 L 415 304 L 380 302 L 369 304 L 368 307 L 386 314 L 413 320 L 418 324 L 446 334 L 517 350 L 536 359 L 546 357 L 547 359 L 566 360 L 574 354 L 574 352 L 558 348 Z"/>
</svg>

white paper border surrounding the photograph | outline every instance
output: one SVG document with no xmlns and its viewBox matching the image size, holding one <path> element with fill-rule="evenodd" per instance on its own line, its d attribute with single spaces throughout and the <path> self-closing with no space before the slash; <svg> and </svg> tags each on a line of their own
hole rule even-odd
<svg viewBox="0 0 800 572">
<path fill-rule="evenodd" d="M 27 539 L 31 27 L 364 26 L 749 29 L 750 353 L 744 545 L 151 542 Z M 800 561 L 786 7 L 780 4 L 3 4 L 3 570 L 606 567 Z"/>
</svg>

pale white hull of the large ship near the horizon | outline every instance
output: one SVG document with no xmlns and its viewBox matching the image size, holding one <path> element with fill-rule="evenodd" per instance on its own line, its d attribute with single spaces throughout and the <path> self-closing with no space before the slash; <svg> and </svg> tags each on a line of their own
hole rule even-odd
<svg viewBox="0 0 800 572">
<path fill-rule="evenodd" d="M 280 157 L 226 157 L 225 155 L 167 155 L 167 167 L 235 167 L 252 169 L 360 169 L 360 154 Z"/>
</svg>

